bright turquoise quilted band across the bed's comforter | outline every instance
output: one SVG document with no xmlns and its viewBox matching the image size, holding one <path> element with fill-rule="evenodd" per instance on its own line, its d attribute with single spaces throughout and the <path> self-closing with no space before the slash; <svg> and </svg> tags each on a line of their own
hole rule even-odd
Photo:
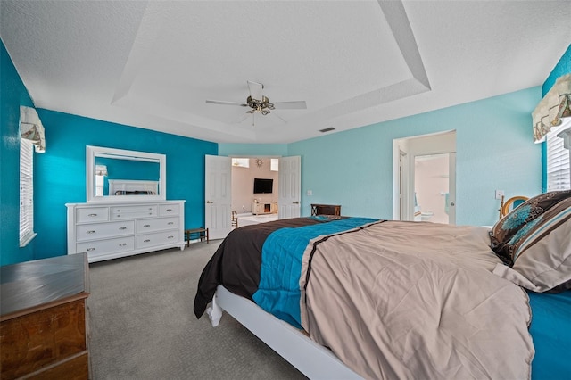
<svg viewBox="0 0 571 380">
<path fill-rule="evenodd" d="M 300 315 L 300 275 L 302 256 L 310 240 L 333 235 L 378 221 L 348 218 L 296 228 L 281 228 L 271 233 L 261 251 L 260 285 L 252 299 L 263 310 L 302 328 Z"/>
</svg>

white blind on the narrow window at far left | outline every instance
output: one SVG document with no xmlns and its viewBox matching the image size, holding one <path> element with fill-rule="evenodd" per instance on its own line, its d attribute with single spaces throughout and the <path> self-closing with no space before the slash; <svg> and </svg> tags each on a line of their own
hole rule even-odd
<svg viewBox="0 0 571 380">
<path fill-rule="evenodd" d="M 34 233 L 34 144 L 25 138 L 20 143 L 20 246 Z"/>
</svg>

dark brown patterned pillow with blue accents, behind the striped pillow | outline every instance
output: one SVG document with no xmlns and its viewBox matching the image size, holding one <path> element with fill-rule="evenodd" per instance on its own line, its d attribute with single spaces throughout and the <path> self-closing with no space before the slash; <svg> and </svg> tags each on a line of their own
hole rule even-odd
<svg viewBox="0 0 571 380">
<path fill-rule="evenodd" d="M 530 230 L 556 215 L 567 206 L 565 201 L 571 199 L 571 190 L 553 191 L 534 196 L 523 202 L 508 215 L 500 219 L 490 231 L 490 242 L 493 252 L 510 267 L 514 263 L 514 252 L 517 242 L 521 242 Z M 561 203 L 564 202 L 564 203 Z M 554 206 L 557 209 L 551 210 Z M 548 216 L 544 216 L 550 211 Z"/>
</svg>

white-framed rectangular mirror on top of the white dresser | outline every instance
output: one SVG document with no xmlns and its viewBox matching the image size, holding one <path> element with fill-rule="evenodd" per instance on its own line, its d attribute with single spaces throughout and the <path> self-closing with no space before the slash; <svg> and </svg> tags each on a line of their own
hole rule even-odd
<svg viewBox="0 0 571 380">
<path fill-rule="evenodd" d="M 166 200 L 167 156 L 87 145 L 87 202 Z"/>
</svg>

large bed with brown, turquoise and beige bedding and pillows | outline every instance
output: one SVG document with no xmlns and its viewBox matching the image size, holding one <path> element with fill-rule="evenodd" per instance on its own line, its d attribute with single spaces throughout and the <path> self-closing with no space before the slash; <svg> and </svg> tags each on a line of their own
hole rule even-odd
<svg viewBox="0 0 571 380">
<path fill-rule="evenodd" d="M 492 230 L 324 217 L 240 227 L 203 269 L 194 313 L 216 325 L 228 311 L 310 378 L 565 376 L 570 202 L 542 194 Z M 540 265 L 536 282 L 529 256 L 552 247 L 564 273 Z"/>
</svg>

